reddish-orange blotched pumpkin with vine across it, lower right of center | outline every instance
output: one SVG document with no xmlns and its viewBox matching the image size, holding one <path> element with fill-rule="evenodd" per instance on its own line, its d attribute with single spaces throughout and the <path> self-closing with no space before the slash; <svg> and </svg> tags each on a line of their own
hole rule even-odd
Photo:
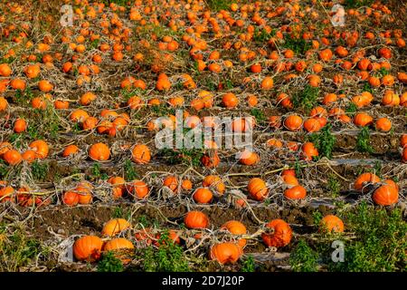
<svg viewBox="0 0 407 290">
<path fill-rule="evenodd" d="M 271 220 L 266 227 L 272 228 L 272 234 L 263 233 L 261 238 L 267 247 L 285 247 L 289 245 L 292 237 L 292 229 L 289 224 L 282 219 Z"/>
</svg>

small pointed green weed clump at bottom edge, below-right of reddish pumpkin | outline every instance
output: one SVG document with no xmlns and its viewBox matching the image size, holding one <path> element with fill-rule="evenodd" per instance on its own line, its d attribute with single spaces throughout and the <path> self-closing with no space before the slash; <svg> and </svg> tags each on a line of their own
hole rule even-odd
<svg viewBox="0 0 407 290">
<path fill-rule="evenodd" d="M 317 252 L 309 247 L 304 239 L 300 239 L 289 256 L 289 265 L 294 272 L 316 272 L 317 259 Z"/>
</svg>

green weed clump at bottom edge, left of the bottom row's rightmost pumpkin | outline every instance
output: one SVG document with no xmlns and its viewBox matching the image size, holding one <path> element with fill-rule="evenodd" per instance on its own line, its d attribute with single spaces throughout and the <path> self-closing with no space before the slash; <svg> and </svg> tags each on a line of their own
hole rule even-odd
<svg viewBox="0 0 407 290">
<path fill-rule="evenodd" d="M 147 272 L 187 272 L 188 262 L 182 247 L 176 245 L 168 233 L 161 234 L 159 247 L 143 249 L 143 270 Z"/>
</svg>

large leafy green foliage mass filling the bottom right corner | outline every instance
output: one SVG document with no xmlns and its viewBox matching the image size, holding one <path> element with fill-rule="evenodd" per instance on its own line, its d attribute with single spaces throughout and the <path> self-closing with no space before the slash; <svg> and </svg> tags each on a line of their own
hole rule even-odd
<svg viewBox="0 0 407 290">
<path fill-rule="evenodd" d="M 365 202 L 345 213 L 345 225 L 356 239 L 345 244 L 345 261 L 329 263 L 329 269 L 344 272 L 405 271 L 407 269 L 407 223 L 402 211 L 387 212 Z"/>
</svg>

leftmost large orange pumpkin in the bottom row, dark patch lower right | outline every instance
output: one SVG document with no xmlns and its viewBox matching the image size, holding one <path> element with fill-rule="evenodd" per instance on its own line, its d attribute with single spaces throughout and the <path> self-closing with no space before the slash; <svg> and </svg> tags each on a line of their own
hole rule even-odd
<svg viewBox="0 0 407 290">
<path fill-rule="evenodd" d="M 100 257 L 100 251 L 103 241 L 96 236 L 84 236 L 78 238 L 73 244 L 73 256 L 80 261 L 97 261 Z"/>
</svg>

